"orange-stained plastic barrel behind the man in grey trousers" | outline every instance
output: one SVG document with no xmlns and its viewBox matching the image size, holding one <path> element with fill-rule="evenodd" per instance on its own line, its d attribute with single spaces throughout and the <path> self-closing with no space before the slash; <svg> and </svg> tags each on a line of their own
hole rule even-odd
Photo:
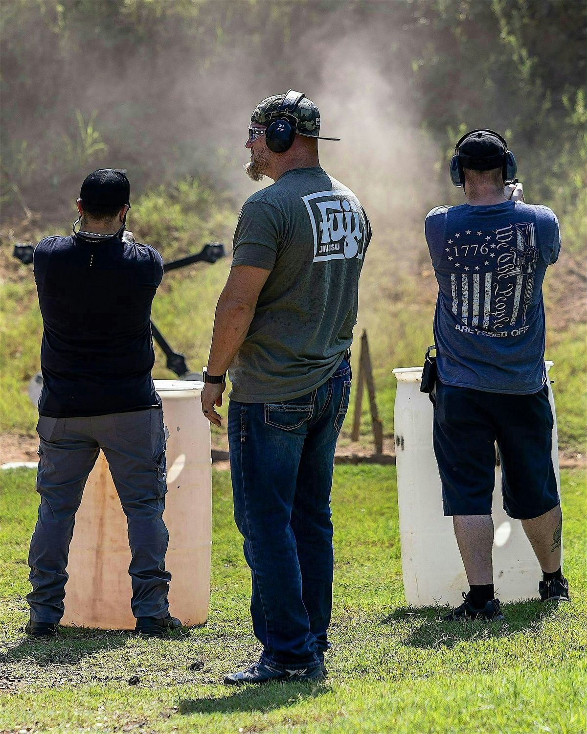
<svg viewBox="0 0 587 734">
<path fill-rule="evenodd" d="M 211 556 L 210 424 L 200 409 L 203 382 L 156 380 L 167 439 L 169 531 L 165 567 L 169 611 L 186 625 L 208 617 Z M 133 629 L 126 516 L 100 453 L 88 477 L 70 546 L 62 625 Z"/>
</svg>

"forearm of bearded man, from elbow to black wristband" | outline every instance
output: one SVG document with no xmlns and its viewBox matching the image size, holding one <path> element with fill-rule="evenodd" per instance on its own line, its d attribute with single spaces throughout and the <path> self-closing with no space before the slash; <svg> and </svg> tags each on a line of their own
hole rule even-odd
<svg viewBox="0 0 587 734">
<path fill-rule="evenodd" d="M 244 342 L 255 308 L 221 294 L 216 305 L 208 374 L 225 374 Z"/>
</svg>

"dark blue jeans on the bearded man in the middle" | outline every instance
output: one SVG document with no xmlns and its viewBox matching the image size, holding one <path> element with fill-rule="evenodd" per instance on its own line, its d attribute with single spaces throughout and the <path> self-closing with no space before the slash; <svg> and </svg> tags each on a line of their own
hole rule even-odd
<svg viewBox="0 0 587 734">
<path fill-rule="evenodd" d="M 301 398 L 230 401 L 235 520 L 251 568 L 253 629 L 269 665 L 312 669 L 329 647 L 330 489 L 350 389 L 343 359 L 324 385 Z"/>
</svg>

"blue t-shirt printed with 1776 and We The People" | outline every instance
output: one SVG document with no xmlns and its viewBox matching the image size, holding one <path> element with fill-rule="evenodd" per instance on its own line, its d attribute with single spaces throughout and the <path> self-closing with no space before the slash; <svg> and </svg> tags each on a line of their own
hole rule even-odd
<svg viewBox="0 0 587 734">
<path fill-rule="evenodd" d="M 439 292 L 438 377 L 446 385 L 528 395 L 546 383 L 542 280 L 561 249 L 546 206 L 438 206 L 424 225 Z"/>
</svg>

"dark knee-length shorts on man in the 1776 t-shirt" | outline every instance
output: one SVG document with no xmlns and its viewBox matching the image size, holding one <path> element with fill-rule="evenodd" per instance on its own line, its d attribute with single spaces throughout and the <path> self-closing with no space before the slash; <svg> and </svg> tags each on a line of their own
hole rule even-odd
<svg viewBox="0 0 587 734">
<path fill-rule="evenodd" d="M 529 520 L 557 506 L 552 431 L 547 385 L 533 395 L 509 395 L 437 380 L 433 440 L 444 514 L 491 515 L 495 441 L 507 514 Z"/>
</svg>

